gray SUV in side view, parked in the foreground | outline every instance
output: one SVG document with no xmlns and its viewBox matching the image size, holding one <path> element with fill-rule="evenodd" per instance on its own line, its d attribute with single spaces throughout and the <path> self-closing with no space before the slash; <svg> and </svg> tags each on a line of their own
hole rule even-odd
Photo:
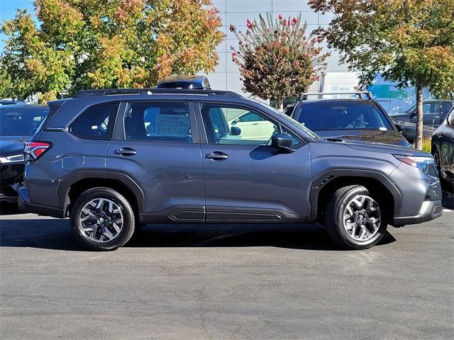
<svg viewBox="0 0 454 340">
<path fill-rule="evenodd" d="M 148 223 L 289 222 L 366 249 L 387 225 L 442 214 L 430 154 L 326 140 L 232 92 L 92 90 L 50 106 L 26 143 L 19 205 L 70 217 L 89 249 L 123 246 Z"/>
</svg>

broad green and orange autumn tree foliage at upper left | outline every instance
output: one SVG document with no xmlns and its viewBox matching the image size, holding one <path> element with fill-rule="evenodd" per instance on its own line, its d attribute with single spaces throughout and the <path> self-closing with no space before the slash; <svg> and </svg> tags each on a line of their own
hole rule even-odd
<svg viewBox="0 0 454 340">
<path fill-rule="evenodd" d="M 211 72 L 223 40 L 211 0 L 35 0 L 37 26 L 18 11 L 1 30 L 1 62 L 16 96 L 154 86 Z"/>
</svg>

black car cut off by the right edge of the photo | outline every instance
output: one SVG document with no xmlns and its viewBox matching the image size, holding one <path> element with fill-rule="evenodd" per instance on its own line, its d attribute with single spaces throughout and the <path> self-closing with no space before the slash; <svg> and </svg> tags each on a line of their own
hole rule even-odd
<svg viewBox="0 0 454 340">
<path fill-rule="evenodd" d="M 432 154 L 441 179 L 454 188 L 454 108 L 435 130 L 432 137 Z"/>
</svg>

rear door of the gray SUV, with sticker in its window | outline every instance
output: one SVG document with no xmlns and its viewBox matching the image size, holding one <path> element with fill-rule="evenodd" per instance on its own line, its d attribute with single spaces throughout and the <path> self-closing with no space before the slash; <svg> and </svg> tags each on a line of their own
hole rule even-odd
<svg viewBox="0 0 454 340">
<path fill-rule="evenodd" d="M 131 177 L 143 222 L 203 222 L 204 186 L 194 106 L 189 101 L 122 103 L 106 171 Z"/>
</svg>

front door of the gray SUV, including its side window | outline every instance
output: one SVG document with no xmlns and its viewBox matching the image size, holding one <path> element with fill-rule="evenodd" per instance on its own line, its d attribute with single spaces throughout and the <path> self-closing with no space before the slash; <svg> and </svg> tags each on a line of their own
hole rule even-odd
<svg viewBox="0 0 454 340">
<path fill-rule="evenodd" d="M 249 107 L 200 103 L 199 110 L 208 141 L 201 144 L 206 222 L 303 221 L 311 181 L 308 145 Z M 215 122 L 230 122 L 238 111 L 260 116 L 259 135 L 240 124 L 240 131 L 219 133 Z M 275 132 L 291 135 L 296 151 L 269 146 Z"/>
</svg>

